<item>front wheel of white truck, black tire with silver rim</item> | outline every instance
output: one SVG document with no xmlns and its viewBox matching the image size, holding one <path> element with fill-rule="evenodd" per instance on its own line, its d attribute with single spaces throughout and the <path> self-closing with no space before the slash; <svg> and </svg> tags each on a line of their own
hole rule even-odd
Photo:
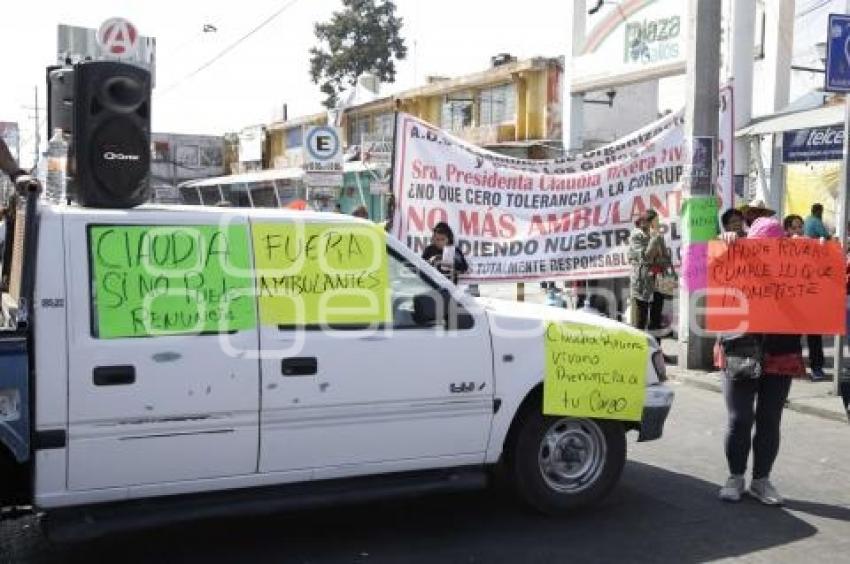
<svg viewBox="0 0 850 564">
<path fill-rule="evenodd" d="M 510 456 L 520 497 L 549 514 L 601 500 L 626 462 L 625 429 L 616 421 L 526 412 Z"/>
</svg>

